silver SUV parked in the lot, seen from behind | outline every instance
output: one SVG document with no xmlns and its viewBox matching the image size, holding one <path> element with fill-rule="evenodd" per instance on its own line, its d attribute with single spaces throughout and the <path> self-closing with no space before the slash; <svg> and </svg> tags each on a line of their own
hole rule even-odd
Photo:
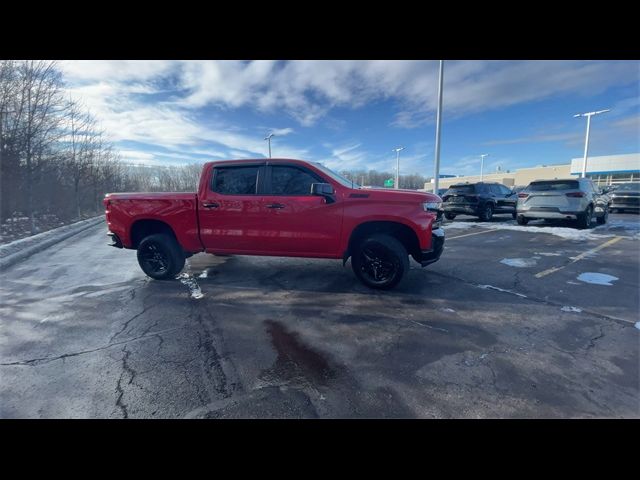
<svg viewBox="0 0 640 480">
<path fill-rule="evenodd" d="M 588 178 L 536 180 L 518 194 L 516 219 L 519 225 L 538 218 L 575 220 L 589 228 L 594 216 L 600 224 L 607 221 L 609 201 Z"/>
</svg>

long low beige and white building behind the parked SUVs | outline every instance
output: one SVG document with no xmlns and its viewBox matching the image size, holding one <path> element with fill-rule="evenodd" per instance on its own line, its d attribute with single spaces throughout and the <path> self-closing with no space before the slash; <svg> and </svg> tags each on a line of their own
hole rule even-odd
<svg viewBox="0 0 640 480">
<path fill-rule="evenodd" d="M 486 173 L 484 182 L 498 182 L 508 187 L 526 186 L 534 180 L 553 180 L 556 178 L 579 177 L 582 173 L 582 157 L 574 158 L 571 163 L 559 165 L 538 165 L 531 168 L 519 168 L 513 172 Z M 640 181 L 640 153 L 624 155 L 605 155 L 587 159 L 587 177 L 598 185 L 610 185 Z M 447 188 L 456 183 L 474 183 L 480 181 L 480 175 L 458 177 L 440 177 L 439 188 Z M 433 190 L 433 179 L 424 184 L 427 191 Z"/>
</svg>

